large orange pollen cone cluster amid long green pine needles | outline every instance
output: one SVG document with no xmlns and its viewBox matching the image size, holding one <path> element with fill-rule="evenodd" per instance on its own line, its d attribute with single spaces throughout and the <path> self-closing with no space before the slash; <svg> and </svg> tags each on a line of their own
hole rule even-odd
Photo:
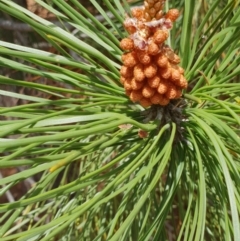
<svg viewBox="0 0 240 241">
<path fill-rule="evenodd" d="M 133 102 L 143 107 L 165 106 L 172 99 L 179 99 L 188 82 L 184 69 L 178 66 L 180 57 L 165 44 L 173 22 L 179 16 L 177 9 L 165 15 L 165 0 L 144 0 L 143 7 L 131 10 L 124 27 L 129 37 L 121 40 L 123 66 L 120 82 Z"/>
</svg>

